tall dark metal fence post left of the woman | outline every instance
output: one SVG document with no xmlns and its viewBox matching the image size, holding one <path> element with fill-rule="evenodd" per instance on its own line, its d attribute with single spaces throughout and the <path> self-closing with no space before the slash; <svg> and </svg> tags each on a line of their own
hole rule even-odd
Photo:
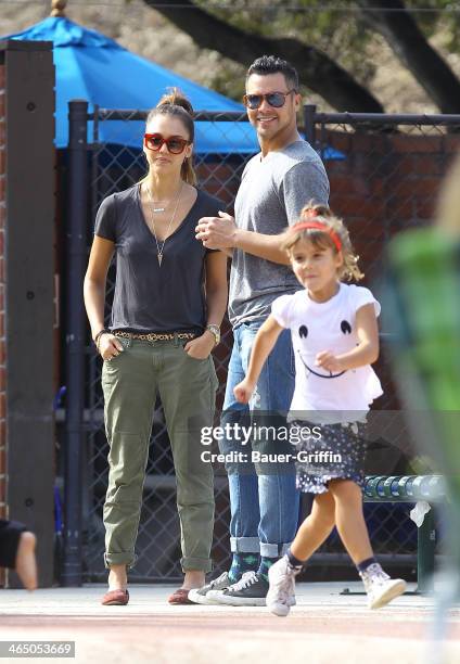
<svg viewBox="0 0 460 664">
<path fill-rule="evenodd" d="M 81 585 L 81 450 L 85 397 L 85 308 L 82 280 L 87 258 L 88 102 L 68 104 L 69 205 L 67 209 L 67 320 L 66 320 L 66 417 L 65 417 L 65 523 L 62 582 Z"/>
</svg>

